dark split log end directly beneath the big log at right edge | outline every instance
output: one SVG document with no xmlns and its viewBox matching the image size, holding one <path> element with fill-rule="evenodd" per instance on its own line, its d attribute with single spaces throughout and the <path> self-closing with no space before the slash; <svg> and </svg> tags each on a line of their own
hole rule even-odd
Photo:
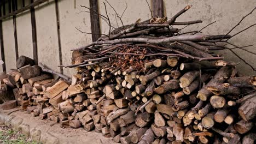
<svg viewBox="0 0 256 144">
<path fill-rule="evenodd" d="M 253 125 L 254 124 L 252 122 L 242 119 L 234 125 L 234 129 L 240 134 L 245 134 L 252 129 Z"/>
</svg>

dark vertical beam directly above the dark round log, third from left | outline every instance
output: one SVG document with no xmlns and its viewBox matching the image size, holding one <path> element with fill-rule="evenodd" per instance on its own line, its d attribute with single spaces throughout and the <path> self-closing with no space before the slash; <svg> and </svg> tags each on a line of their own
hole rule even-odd
<svg viewBox="0 0 256 144">
<path fill-rule="evenodd" d="M 36 3 L 36 2 L 33 2 L 33 0 L 31 0 L 31 4 Z M 31 7 L 30 14 L 31 14 L 32 41 L 33 41 L 33 59 L 34 59 L 34 62 L 36 64 L 38 64 L 38 55 L 37 55 L 37 27 L 36 27 L 36 16 L 34 14 L 34 7 Z"/>
</svg>

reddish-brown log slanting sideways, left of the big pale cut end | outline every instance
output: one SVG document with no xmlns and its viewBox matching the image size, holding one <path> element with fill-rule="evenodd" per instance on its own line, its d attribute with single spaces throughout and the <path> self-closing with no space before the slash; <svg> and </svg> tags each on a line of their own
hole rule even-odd
<svg viewBox="0 0 256 144">
<path fill-rule="evenodd" d="M 163 94 L 172 89 L 179 88 L 179 80 L 169 80 L 164 82 L 161 86 L 155 88 L 155 93 Z"/>
</svg>

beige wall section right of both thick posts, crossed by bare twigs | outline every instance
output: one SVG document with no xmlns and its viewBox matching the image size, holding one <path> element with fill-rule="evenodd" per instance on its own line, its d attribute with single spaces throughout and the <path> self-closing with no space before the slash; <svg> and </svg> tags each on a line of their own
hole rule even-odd
<svg viewBox="0 0 256 144">
<path fill-rule="evenodd" d="M 226 1 L 211 1 L 211 0 L 192 0 L 192 1 L 167 1 L 164 0 L 166 7 L 166 16 L 171 18 L 179 10 L 183 9 L 186 5 L 193 5 L 182 16 L 178 17 L 177 21 L 190 21 L 190 20 L 202 20 L 203 22 L 196 25 L 188 26 L 184 28 L 184 32 L 193 31 L 195 29 L 199 30 L 202 27 L 208 25 L 211 22 L 216 21 L 213 25 L 203 29 L 205 34 L 226 34 L 229 30 L 234 27 L 243 16 L 247 15 L 256 5 L 255 0 L 226 0 Z M 256 23 L 256 11 L 253 14 L 246 17 L 246 19 L 232 31 L 230 34 L 235 34 L 242 29 Z M 231 43 L 234 43 L 238 46 L 251 45 L 254 46 L 247 47 L 246 49 L 252 52 L 256 52 L 256 26 L 250 28 L 246 32 L 243 32 L 236 37 L 230 39 Z M 239 56 L 244 58 L 249 64 L 252 64 L 256 68 L 256 57 L 251 53 L 248 53 L 243 50 L 235 49 L 234 50 Z M 251 67 L 245 65 L 240 59 L 238 59 L 233 53 L 228 50 L 223 52 L 227 61 L 238 62 L 238 69 L 245 74 L 256 74 L 253 72 Z"/>
</svg>

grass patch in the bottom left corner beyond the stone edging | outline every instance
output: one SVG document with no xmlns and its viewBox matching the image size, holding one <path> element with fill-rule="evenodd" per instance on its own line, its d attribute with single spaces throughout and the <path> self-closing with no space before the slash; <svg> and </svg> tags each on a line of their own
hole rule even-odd
<svg viewBox="0 0 256 144">
<path fill-rule="evenodd" d="M 20 131 L 14 131 L 9 127 L 0 125 L 0 143 L 3 144 L 38 144 L 38 142 L 31 141 Z"/>
</svg>

